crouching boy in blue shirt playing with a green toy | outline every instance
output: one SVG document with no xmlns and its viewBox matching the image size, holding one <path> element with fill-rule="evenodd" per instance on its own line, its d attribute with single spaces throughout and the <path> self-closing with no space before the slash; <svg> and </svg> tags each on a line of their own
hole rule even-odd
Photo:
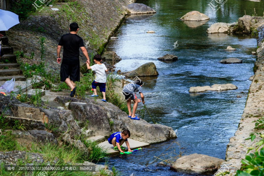
<svg viewBox="0 0 264 176">
<path fill-rule="evenodd" d="M 115 132 L 111 134 L 111 136 L 108 138 L 109 144 L 114 145 L 114 150 L 119 150 L 121 153 L 125 153 L 122 150 L 125 150 L 125 147 L 122 147 L 122 144 L 125 142 L 126 146 L 128 148 L 128 151 L 131 152 L 132 150 L 129 147 L 129 143 L 127 139 L 130 137 L 130 131 L 129 130 L 123 130 L 122 132 Z"/>
</svg>

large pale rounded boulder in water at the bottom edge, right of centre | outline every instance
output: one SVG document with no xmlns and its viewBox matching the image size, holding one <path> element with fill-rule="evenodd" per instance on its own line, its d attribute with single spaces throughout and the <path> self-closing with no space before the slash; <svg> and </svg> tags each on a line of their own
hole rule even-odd
<svg viewBox="0 0 264 176">
<path fill-rule="evenodd" d="M 219 158 L 194 153 L 177 159 L 172 164 L 172 168 L 177 172 L 191 174 L 212 173 L 220 168 L 222 162 L 224 162 L 224 160 Z"/>
</svg>

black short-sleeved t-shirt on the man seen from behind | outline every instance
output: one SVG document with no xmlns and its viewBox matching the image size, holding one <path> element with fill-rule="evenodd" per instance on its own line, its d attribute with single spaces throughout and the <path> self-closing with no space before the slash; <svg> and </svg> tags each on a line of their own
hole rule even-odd
<svg viewBox="0 0 264 176">
<path fill-rule="evenodd" d="M 84 47 L 82 38 L 77 34 L 65 34 L 60 38 L 59 44 L 63 46 L 63 64 L 78 64 L 79 61 L 79 48 Z"/>
</svg>

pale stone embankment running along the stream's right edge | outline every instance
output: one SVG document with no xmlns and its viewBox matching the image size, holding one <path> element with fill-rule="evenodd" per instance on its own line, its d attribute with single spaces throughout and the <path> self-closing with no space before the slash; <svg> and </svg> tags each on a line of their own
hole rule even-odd
<svg viewBox="0 0 264 176">
<path fill-rule="evenodd" d="M 221 164 L 222 168 L 217 171 L 223 172 L 228 169 L 230 172 L 228 176 L 235 175 L 236 170 L 240 169 L 241 159 L 245 158 L 248 147 L 253 146 L 259 137 L 256 137 L 253 142 L 245 139 L 249 137 L 250 133 L 261 131 L 254 129 L 255 123 L 252 121 L 264 115 L 264 24 L 256 30 L 258 31 L 258 49 L 254 65 L 255 76 L 248 90 L 246 106 L 238 129 L 227 145 L 225 162 Z"/>
</svg>

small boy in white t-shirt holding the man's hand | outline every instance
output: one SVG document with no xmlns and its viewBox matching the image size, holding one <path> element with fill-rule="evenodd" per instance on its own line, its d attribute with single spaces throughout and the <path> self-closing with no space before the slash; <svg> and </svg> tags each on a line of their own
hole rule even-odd
<svg viewBox="0 0 264 176">
<path fill-rule="evenodd" d="M 95 72 L 95 79 L 92 82 L 92 88 L 94 89 L 94 94 L 91 95 L 91 97 L 98 97 L 96 93 L 96 87 L 98 86 L 100 89 L 100 92 L 102 92 L 103 94 L 103 99 L 101 100 L 106 101 L 106 98 L 105 98 L 106 74 L 105 72 L 107 72 L 108 70 L 105 67 L 105 65 L 101 63 L 101 61 L 102 61 L 101 55 L 97 54 L 94 56 L 95 65 L 92 65 L 91 67 L 88 63 L 86 63 L 86 65 L 87 65 L 88 70 L 92 69 L 92 71 Z"/>
</svg>

